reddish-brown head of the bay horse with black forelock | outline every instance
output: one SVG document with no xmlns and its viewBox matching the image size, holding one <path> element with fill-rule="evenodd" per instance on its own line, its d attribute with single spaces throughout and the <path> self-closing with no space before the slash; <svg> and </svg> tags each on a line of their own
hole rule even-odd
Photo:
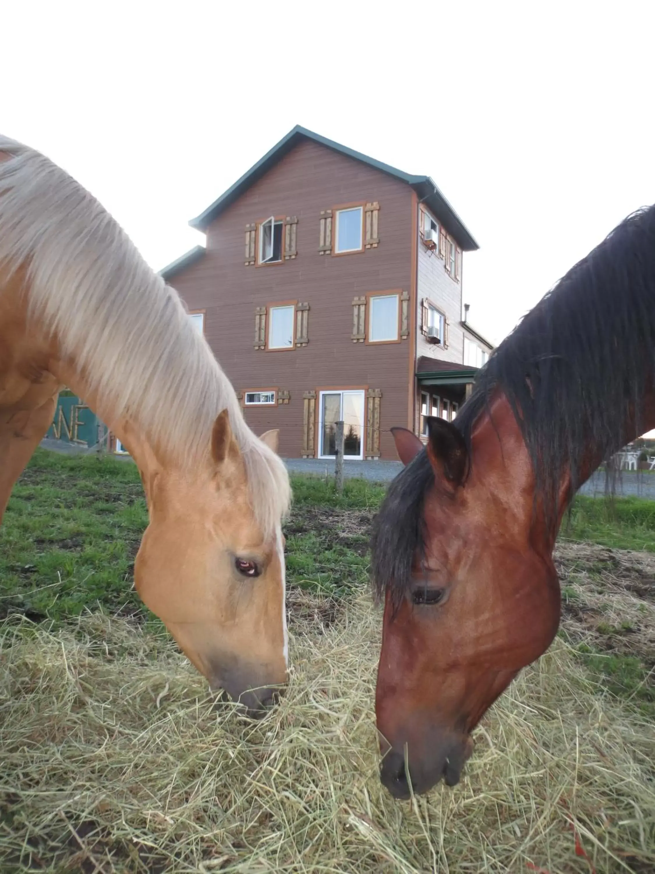
<svg viewBox="0 0 655 874">
<path fill-rule="evenodd" d="M 425 449 L 394 429 L 407 467 L 378 517 L 373 562 L 386 592 L 376 690 L 382 780 L 397 798 L 409 797 L 408 775 L 417 793 L 442 776 L 458 782 L 472 729 L 559 622 L 552 543 L 535 537 L 521 434 L 507 403 L 493 407 L 493 424 L 483 419 L 471 455 L 445 420 L 429 420 Z"/>
</svg>

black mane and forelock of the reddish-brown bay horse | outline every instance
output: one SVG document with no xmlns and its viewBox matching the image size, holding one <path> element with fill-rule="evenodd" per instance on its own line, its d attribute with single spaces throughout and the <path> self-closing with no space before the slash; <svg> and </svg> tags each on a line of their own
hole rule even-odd
<svg viewBox="0 0 655 874">
<path fill-rule="evenodd" d="M 655 206 L 634 213 L 569 270 L 479 372 L 456 427 L 472 425 L 500 389 L 532 459 L 536 496 L 556 525 L 562 476 L 569 500 L 585 457 L 609 458 L 641 434 L 655 375 Z M 519 412 L 521 411 L 521 413 Z M 630 423 L 630 424 L 629 424 Z M 424 496 L 434 479 L 423 450 L 391 483 L 376 517 L 372 578 L 402 598 L 424 548 Z"/>
</svg>

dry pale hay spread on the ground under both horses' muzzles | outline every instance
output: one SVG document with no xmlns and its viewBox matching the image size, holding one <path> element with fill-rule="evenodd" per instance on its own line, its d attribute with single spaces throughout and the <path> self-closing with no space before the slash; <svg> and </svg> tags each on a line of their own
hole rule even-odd
<svg viewBox="0 0 655 874">
<path fill-rule="evenodd" d="M 486 717 L 458 787 L 400 803 L 377 778 L 378 611 L 365 594 L 292 608 L 290 689 L 261 723 L 212 710 L 129 620 L 8 620 L 0 871 L 655 870 L 655 728 L 565 642 Z"/>
</svg>

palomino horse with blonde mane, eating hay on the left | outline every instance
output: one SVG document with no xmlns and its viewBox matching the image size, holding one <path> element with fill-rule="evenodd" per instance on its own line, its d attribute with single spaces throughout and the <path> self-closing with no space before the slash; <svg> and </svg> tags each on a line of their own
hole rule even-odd
<svg viewBox="0 0 655 874">
<path fill-rule="evenodd" d="M 287 662 L 277 432 L 252 434 L 176 292 L 102 206 L 0 137 L 0 517 L 62 385 L 141 471 L 141 599 L 212 687 L 263 711 Z"/>
</svg>

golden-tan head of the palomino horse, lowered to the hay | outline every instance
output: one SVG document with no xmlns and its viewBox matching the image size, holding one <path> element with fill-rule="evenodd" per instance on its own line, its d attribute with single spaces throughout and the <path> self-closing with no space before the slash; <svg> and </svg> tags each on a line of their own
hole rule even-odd
<svg viewBox="0 0 655 874">
<path fill-rule="evenodd" d="M 277 438 L 267 432 L 266 446 L 250 451 L 272 455 Z M 281 520 L 267 537 L 257 522 L 227 411 L 193 471 L 167 469 L 135 434 L 125 435 L 125 445 L 148 501 L 134 564 L 141 599 L 212 689 L 227 691 L 252 716 L 263 714 L 286 682 L 284 542 Z"/>
</svg>

